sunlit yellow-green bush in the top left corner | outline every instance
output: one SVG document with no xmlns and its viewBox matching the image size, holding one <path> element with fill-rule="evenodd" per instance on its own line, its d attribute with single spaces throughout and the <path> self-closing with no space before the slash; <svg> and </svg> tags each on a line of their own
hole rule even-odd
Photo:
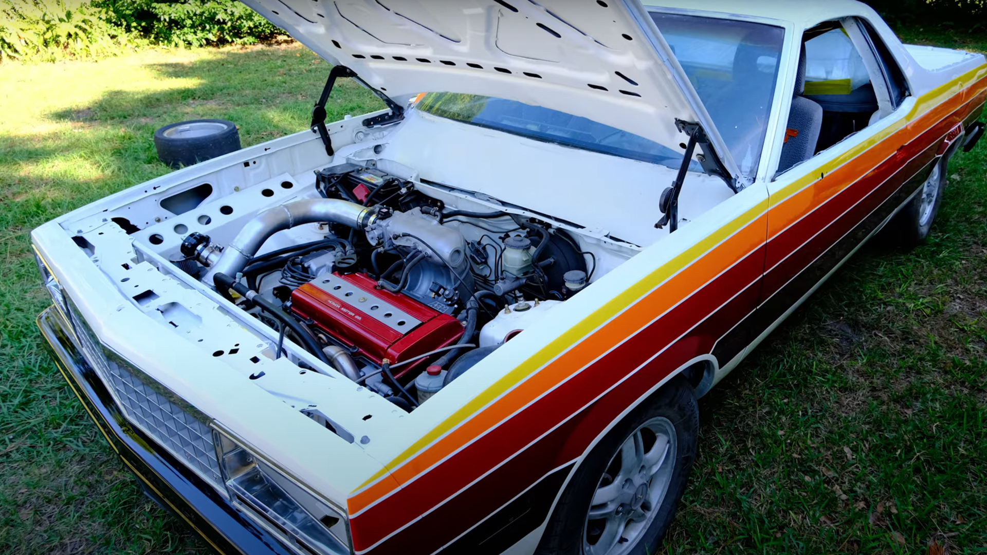
<svg viewBox="0 0 987 555">
<path fill-rule="evenodd" d="M 110 55 L 131 39 L 81 0 L 0 0 L 0 61 Z"/>
</svg>

